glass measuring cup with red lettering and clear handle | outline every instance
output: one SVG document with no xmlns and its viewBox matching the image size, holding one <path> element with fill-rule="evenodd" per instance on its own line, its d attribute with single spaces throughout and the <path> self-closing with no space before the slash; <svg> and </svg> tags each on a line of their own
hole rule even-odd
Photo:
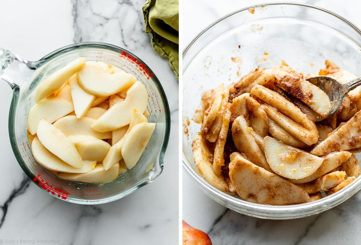
<svg viewBox="0 0 361 245">
<path fill-rule="evenodd" d="M 148 91 L 147 108 L 151 114 L 148 121 L 157 123 L 148 147 L 136 166 L 109 183 L 86 184 L 57 178 L 36 162 L 27 138 L 27 114 L 35 104 L 33 97 L 36 86 L 54 71 L 79 57 L 103 61 L 133 74 Z M 105 43 L 77 43 L 31 62 L 0 49 L 0 78 L 13 89 L 9 136 L 15 157 L 29 178 L 52 196 L 77 204 L 111 202 L 151 183 L 161 174 L 170 131 L 168 102 L 152 70 L 129 51 Z"/>
</svg>

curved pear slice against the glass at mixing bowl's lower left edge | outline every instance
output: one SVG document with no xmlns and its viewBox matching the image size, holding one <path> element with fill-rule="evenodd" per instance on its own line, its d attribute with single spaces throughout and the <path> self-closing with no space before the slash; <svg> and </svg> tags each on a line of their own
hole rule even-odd
<svg viewBox="0 0 361 245">
<path fill-rule="evenodd" d="M 229 191 L 228 184 L 224 180 L 223 176 L 217 176 L 212 170 L 213 163 L 210 160 L 210 156 L 213 156 L 213 152 L 210 152 L 202 136 L 198 134 L 194 136 L 192 148 L 194 161 L 203 178 L 218 190 Z"/>
</svg>

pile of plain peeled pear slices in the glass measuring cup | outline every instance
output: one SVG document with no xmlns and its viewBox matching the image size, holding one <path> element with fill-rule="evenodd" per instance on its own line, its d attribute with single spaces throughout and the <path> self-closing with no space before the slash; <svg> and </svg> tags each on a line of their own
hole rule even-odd
<svg viewBox="0 0 361 245">
<path fill-rule="evenodd" d="M 83 57 L 40 83 L 34 101 L 27 118 L 32 154 L 61 179 L 116 179 L 136 165 L 156 127 L 141 82 Z"/>
</svg>

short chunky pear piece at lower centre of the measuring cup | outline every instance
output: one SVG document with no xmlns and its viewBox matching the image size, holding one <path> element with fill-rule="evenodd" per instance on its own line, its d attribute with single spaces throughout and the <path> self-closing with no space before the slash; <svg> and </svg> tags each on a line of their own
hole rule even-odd
<svg viewBox="0 0 361 245">
<path fill-rule="evenodd" d="M 75 145 L 83 160 L 102 162 L 110 145 L 90 135 L 70 135 L 68 139 Z"/>
</svg>

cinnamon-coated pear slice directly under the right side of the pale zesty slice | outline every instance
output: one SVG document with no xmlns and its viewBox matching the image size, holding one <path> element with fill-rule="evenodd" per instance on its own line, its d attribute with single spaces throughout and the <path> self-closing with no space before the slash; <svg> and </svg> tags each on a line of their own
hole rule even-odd
<svg viewBox="0 0 361 245">
<path fill-rule="evenodd" d="M 322 156 L 323 162 L 321 166 L 311 175 L 307 176 L 306 178 L 302 179 L 287 179 L 288 181 L 292 182 L 293 184 L 303 184 L 308 183 L 312 180 L 315 180 L 322 175 L 327 174 L 328 172 L 331 172 L 332 170 L 336 169 L 338 166 L 343 165 L 343 163 L 347 162 L 347 159 L 351 157 L 350 152 L 332 152 L 326 156 Z M 340 169 L 344 170 L 344 169 Z M 347 172 L 346 172 L 347 174 Z"/>
</svg>

